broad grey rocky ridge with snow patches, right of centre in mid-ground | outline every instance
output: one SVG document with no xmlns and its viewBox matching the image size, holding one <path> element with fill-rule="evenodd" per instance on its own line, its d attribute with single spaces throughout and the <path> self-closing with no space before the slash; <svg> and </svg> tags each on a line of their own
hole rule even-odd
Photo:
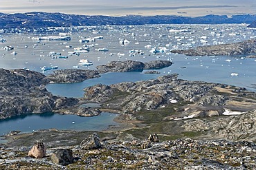
<svg viewBox="0 0 256 170">
<path fill-rule="evenodd" d="M 102 103 L 102 108 L 119 110 L 122 114 L 158 112 L 168 108 L 165 111 L 176 113 L 170 119 L 221 116 L 227 108 L 236 109 L 233 103 L 241 103 L 241 106 L 237 106 L 245 111 L 256 106 L 255 93 L 246 89 L 218 83 L 185 81 L 178 79 L 177 74 L 136 83 L 94 85 L 86 87 L 84 92 L 84 99 L 89 102 Z M 248 103 L 250 107 L 243 104 L 246 96 L 253 98 Z"/>
</svg>

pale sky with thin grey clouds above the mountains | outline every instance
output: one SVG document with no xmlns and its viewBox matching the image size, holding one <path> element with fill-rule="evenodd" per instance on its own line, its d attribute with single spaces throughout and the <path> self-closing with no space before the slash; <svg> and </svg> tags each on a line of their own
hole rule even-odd
<svg viewBox="0 0 256 170">
<path fill-rule="evenodd" d="M 1 0 L 0 12 L 62 12 L 66 14 L 124 16 L 127 14 L 255 14 L 255 0 Z"/>
</svg>

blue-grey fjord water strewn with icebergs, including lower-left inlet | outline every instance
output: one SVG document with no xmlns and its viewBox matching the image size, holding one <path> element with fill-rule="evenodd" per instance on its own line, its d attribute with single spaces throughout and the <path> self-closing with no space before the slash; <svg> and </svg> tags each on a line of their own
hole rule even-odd
<svg viewBox="0 0 256 170">
<path fill-rule="evenodd" d="M 182 54 L 170 54 L 163 52 L 160 54 L 152 54 L 149 52 L 152 47 L 166 47 L 172 49 L 187 49 L 199 45 L 214 45 L 221 43 L 235 43 L 247 39 L 255 39 L 255 30 L 249 30 L 246 25 L 241 24 L 223 24 L 223 25 L 129 25 L 129 26 L 98 26 L 85 27 L 84 31 L 70 32 L 71 41 L 37 41 L 32 39 L 36 36 L 49 36 L 53 34 L 0 34 L 1 38 L 6 39 L 5 43 L 0 43 L 0 67 L 4 69 L 15 69 L 26 67 L 29 70 L 42 72 L 43 66 L 55 66 L 59 69 L 71 69 L 76 66 L 80 59 L 88 59 L 93 62 L 89 67 L 79 67 L 79 69 L 93 70 L 97 65 L 106 64 L 109 61 L 154 61 L 158 59 L 172 60 L 173 65 L 161 70 L 161 74 L 144 74 L 144 72 L 125 72 L 125 73 L 107 73 L 102 74 L 100 78 L 93 78 L 82 83 L 71 84 L 50 84 L 47 89 L 55 95 L 68 97 L 82 97 L 84 87 L 102 84 L 113 84 L 125 81 L 143 81 L 157 76 L 178 73 L 179 78 L 190 81 L 208 81 L 212 83 L 226 83 L 228 85 L 237 85 L 250 88 L 252 84 L 256 84 L 256 61 L 255 59 L 246 59 L 246 56 L 185 56 Z M 90 52 L 68 56 L 68 52 L 73 51 L 74 47 L 82 47 L 84 43 L 80 43 L 80 39 L 102 35 L 104 39 L 97 39 L 95 42 L 90 42 Z M 127 39 L 129 44 L 121 45 L 120 39 Z M 15 47 L 17 55 L 11 54 L 12 51 L 5 51 L 3 47 L 12 45 Z M 72 47 L 66 47 L 71 45 Z M 109 52 L 99 52 L 98 48 L 107 47 Z M 144 54 L 129 55 L 129 50 L 142 50 Z M 59 52 L 62 56 L 68 56 L 68 59 L 54 59 L 48 56 L 49 52 Z M 118 55 L 124 54 L 123 55 Z M 44 74 L 51 74 L 53 70 L 47 71 Z M 238 76 L 231 76 L 236 73 Z M 102 118 L 101 116 L 107 116 Z M 93 118 L 68 117 L 68 115 L 51 115 L 45 116 L 30 115 L 19 117 L 10 120 L 1 120 L 1 129 L 8 127 L 1 133 L 6 133 L 8 130 L 33 131 L 37 128 L 28 128 L 30 122 L 42 122 L 39 129 L 60 128 L 60 129 L 75 129 L 79 123 L 78 120 L 84 121 L 77 129 L 86 129 L 88 121 L 98 121 L 97 125 L 93 125 L 95 129 L 102 129 L 101 124 L 105 122 L 107 125 L 113 125 L 113 116 L 102 114 Z M 108 117 L 109 116 L 109 117 Z M 62 120 L 64 123 L 60 126 L 53 125 L 61 123 L 51 122 L 51 120 Z M 73 120 L 72 120 L 73 119 Z M 108 121 L 105 121 L 105 120 Z M 19 122 L 20 120 L 28 122 Z M 70 123 L 75 121 L 74 125 Z M 17 123 L 19 122 L 19 123 Z M 6 123 L 13 123 L 7 125 Z M 109 124 L 108 124 L 109 123 Z M 14 127 L 14 125 L 20 125 Z M 72 125 L 71 125 L 72 124 Z M 26 128 L 25 128 L 26 127 Z M 16 129 L 17 128 L 17 129 Z M 25 129 L 22 129 L 25 128 Z M 90 129 L 91 127 L 89 127 Z M 88 129 L 88 128 L 87 128 Z"/>
</svg>

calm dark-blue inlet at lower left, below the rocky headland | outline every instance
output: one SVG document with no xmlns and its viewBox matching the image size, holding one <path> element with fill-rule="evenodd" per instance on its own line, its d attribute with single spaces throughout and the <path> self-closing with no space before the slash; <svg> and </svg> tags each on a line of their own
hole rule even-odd
<svg viewBox="0 0 256 170">
<path fill-rule="evenodd" d="M 71 129 L 100 131 L 107 129 L 109 125 L 117 125 L 113 121 L 117 114 L 103 112 L 99 116 L 80 117 L 76 115 L 60 115 L 51 112 L 45 114 L 26 114 L 0 120 L 0 134 L 9 131 L 20 130 L 21 132 L 32 132 L 38 129 Z"/>
</svg>

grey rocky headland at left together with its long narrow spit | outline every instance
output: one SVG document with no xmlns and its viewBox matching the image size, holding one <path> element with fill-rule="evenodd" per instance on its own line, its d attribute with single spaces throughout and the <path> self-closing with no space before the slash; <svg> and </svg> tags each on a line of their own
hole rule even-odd
<svg viewBox="0 0 256 170">
<path fill-rule="evenodd" d="M 113 66 L 111 66 L 113 65 Z M 143 69 L 159 69 L 172 65 L 170 61 L 138 61 L 110 62 L 99 66 L 98 70 L 58 70 L 45 76 L 39 72 L 28 70 L 0 70 L 0 118 L 10 118 L 20 114 L 39 114 L 54 111 L 62 114 L 77 114 L 79 116 L 97 116 L 100 111 L 85 111 L 77 107 L 80 100 L 54 96 L 48 92 L 48 83 L 75 83 L 88 78 L 99 77 L 105 72 L 135 72 Z M 139 68 L 139 69 L 138 69 Z"/>
</svg>

